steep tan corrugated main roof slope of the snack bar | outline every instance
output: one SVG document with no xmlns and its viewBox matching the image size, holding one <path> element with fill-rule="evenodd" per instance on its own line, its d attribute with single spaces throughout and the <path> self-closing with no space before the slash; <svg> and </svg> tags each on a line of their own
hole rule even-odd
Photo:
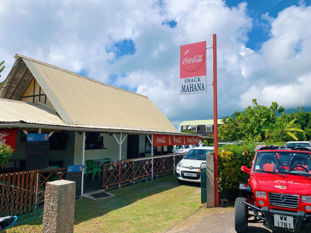
<svg viewBox="0 0 311 233">
<path fill-rule="evenodd" d="M 68 125 L 177 132 L 151 100 L 71 71 L 22 57 Z"/>
</svg>

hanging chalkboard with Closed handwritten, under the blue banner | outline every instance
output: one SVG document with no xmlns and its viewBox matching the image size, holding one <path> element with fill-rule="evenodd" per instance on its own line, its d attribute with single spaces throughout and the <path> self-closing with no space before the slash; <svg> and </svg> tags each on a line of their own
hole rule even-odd
<svg viewBox="0 0 311 233">
<path fill-rule="evenodd" d="M 43 169 L 49 166 L 49 142 L 26 143 L 26 169 Z"/>
</svg>

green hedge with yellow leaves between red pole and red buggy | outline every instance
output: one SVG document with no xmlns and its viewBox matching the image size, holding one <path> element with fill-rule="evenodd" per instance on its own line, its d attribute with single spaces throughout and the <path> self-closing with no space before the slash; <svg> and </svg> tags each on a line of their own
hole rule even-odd
<svg viewBox="0 0 311 233">
<path fill-rule="evenodd" d="M 221 198 L 235 199 L 239 195 L 239 185 L 248 182 L 248 175 L 240 168 L 241 166 L 252 166 L 255 147 L 255 144 L 228 144 L 218 149 Z"/>
</svg>

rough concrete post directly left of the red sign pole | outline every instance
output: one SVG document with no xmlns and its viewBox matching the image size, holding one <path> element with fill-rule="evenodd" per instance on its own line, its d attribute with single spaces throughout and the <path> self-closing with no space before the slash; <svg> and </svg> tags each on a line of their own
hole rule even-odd
<svg viewBox="0 0 311 233">
<path fill-rule="evenodd" d="M 214 155 L 206 156 L 206 208 L 215 207 Z"/>
</svg>

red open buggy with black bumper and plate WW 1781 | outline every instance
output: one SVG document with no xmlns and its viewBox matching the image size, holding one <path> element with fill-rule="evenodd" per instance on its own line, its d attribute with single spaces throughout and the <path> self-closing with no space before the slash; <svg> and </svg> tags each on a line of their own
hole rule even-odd
<svg viewBox="0 0 311 233">
<path fill-rule="evenodd" d="M 311 232 L 311 148 L 263 146 L 252 168 L 241 170 L 250 177 L 235 201 L 235 231 L 247 232 L 252 221 L 276 232 Z"/>
</svg>

